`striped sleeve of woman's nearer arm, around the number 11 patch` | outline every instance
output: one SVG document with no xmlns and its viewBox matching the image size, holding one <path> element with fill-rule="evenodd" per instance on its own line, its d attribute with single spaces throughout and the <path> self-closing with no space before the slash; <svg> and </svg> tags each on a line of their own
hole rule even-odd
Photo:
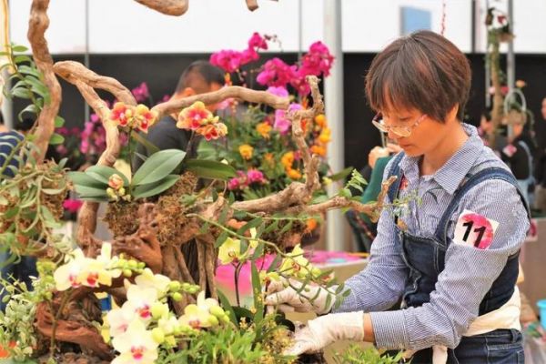
<svg viewBox="0 0 546 364">
<path fill-rule="evenodd" d="M 521 248 L 529 219 L 521 197 L 511 184 L 498 179 L 480 183 L 461 200 L 456 214 L 463 209 L 499 223 L 490 248 L 452 242 L 429 303 L 420 308 L 371 313 L 379 348 L 457 347 L 461 336 L 478 317 L 481 300 L 501 274 L 508 258 Z"/>
</svg>

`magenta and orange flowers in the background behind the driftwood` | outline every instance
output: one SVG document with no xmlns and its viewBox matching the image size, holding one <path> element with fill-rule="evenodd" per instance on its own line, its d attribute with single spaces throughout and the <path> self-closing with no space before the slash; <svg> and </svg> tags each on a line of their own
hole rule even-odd
<svg viewBox="0 0 546 364">
<path fill-rule="evenodd" d="M 268 49 L 268 41 L 273 37 L 254 33 L 248 40 L 248 48 L 238 52 L 222 50 L 210 57 L 211 63 L 223 68 L 227 73 L 238 72 L 249 62 L 258 61 L 260 49 Z M 264 106 L 249 106 L 242 116 L 238 116 L 237 102 L 226 105 L 225 114 L 227 140 L 213 147 L 201 145 L 199 156 L 206 159 L 231 161 L 237 169 L 237 176 L 229 180 L 227 188 L 238 200 L 265 197 L 287 187 L 293 181 L 301 181 L 303 164 L 298 147 L 291 137 L 289 112 L 308 106 L 309 87 L 307 76 L 329 76 L 333 56 L 328 47 L 316 42 L 309 47 L 301 61 L 287 65 L 279 58 L 268 60 L 259 68 L 256 81 L 268 86 L 267 92 L 280 97 L 290 96 L 288 87 L 298 94 L 299 102 L 292 102 L 288 110 L 270 110 Z M 229 74 L 227 79 L 230 79 Z M 322 159 L 319 173 L 326 177 L 329 167 L 325 163 L 330 130 L 323 114 L 301 121 L 306 142 L 312 154 Z"/>
</svg>

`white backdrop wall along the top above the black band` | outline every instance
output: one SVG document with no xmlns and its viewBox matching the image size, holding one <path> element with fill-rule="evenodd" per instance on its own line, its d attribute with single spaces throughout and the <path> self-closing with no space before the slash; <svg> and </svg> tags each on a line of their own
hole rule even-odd
<svg viewBox="0 0 546 364">
<path fill-rule="evenodd" d="M 190 0 L 186 15 L 161 15 L 133 0 L 51 0 L 51 26 L 46 34 L 54 54 L 86 51 L 86 1 L 89 6 L 90 53 L 210 53 L 240 49 L 254 31 L 275 34 L 285 51 L 305 50 L 323 38 L 322 0 L 259 0 L 250 13 L 243 0 Z M 299 26 L 301 1 L 301 27 Z M 341 0 L 339 0 L 341 1 Z M 11 35 L 27 44 L 30 0 L 11 0 Z M 464 52 L 471 51 L 471 1 L 447 0 L 446 36 Z M 502 7 L 506 1 L 490 0 Z M 432 30 L 440 31 L 440 0 L 343 0 L 344 52 L 377 52 L 399 36 L 400 6 L 431 13 Z M 483 52 L 485 0 L 478 0 L 480 20 L 476 50 Z M 514 0 L 515 51 L 546 53 L 546 0 Z M 301 37 L 299 36 L 301 29 Z M 274 46 L 272 50 L 279 50 Z"/>
</svg>

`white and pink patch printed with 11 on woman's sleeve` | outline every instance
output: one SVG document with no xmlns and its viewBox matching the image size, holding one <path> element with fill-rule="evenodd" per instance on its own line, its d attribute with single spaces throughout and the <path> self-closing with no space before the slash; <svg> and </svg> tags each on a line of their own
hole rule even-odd
<svg viewBox="0 0 546 364">
<path fill-rule="evenodd" d="M 497 221 L 470 210 L 464 210 L 457 219 L 453 241 L 455 244 L 487 249 L 493 242 L 497 227 L 499 227 Z"/>
</svg>

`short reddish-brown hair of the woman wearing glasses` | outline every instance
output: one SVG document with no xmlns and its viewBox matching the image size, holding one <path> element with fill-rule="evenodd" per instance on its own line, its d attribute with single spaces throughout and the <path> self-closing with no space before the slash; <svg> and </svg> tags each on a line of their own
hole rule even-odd
<svg viewBox="0 0 546 364">
<path fill-rule="evenodd" d="M 453 106 L 464 115 L 470 94 L 470 63 L 445 37 L 421 30 L 403 36 L 375 56 L 366 76 L 369 106 L 415 108 L 444 122 Z"/>
</svg>

